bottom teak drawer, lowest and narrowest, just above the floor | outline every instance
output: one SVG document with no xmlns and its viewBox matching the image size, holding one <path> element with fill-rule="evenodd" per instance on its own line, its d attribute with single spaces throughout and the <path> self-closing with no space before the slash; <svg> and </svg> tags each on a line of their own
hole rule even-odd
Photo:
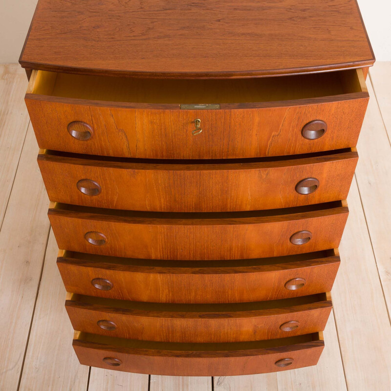
<svg viewBox="0 0 391 391">
<path fill-rule="evenodd" d="M 75 332 L 73 348 L 91 367 L 170 376 L 233 376 L 316 365 L 322 333 L 267 341 L 192 344 L 138 341 Z"/>
</svg>

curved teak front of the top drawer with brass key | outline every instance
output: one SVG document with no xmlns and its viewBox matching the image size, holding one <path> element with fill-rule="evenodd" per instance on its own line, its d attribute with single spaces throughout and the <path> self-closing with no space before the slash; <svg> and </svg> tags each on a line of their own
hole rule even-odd
<svg viewBox="0 0 391 391">
<path fill-rule="evenodd" d="M 105 106 L 77 102 L 80 100 L 69 103 L 69 99 L 61 98 L 45 100 L 33 94 L 27 94 L 25 101 L 38 145 L 43 149 L 119 157 L 222 159 L 354 147 L 369 99 L 354 97 L 219 110 L 180 110 L 179 105 L 171 105 L 172 109 L 137 109 L 116 103 Z M 193 135 L 197 118 L 201 119 L 202 132 Z M 326 123 L 326 132 L 319 138 L 304 138 L 304 126 L 315 120 Z M 71 129 L 69 124 L 75 121 L 83 124 Z M 78 132 L 77 138 L 68 127 L 70 132 Z M 315 124 L 314 129 L 313 137 L 318 137 L 316 131 L 321 132 L 323 126 Z M 84 141 L 86 132 L 92 136 Z"/>
</svg>

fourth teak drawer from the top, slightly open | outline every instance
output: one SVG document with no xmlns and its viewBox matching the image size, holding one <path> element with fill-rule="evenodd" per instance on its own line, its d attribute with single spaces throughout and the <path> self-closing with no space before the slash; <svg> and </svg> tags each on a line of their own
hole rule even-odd
<svg viewBox="0 0 391 391">
<path fill-rule="evenodd" d="M 57 265 L 67 292 L 80 295 L 152 303 L 242 303 L 327 292 L 340 258 L 337 249 L 274 258 L 185 262 L 60 250 Z"/>
</svg>

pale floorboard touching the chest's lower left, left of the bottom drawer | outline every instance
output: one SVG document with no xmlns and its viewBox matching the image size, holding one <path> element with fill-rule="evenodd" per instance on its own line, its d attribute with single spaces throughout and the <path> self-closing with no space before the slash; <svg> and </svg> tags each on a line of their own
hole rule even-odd
<svg viewBox="0 0 391 391">
<path fill-rule="evenodd" d="M 79 364 L 72 348 L 73 328 L 64 306 L 57 254 L 51 231 L 19 391 L 87 389 L 88 367 Z"/>
</svg>

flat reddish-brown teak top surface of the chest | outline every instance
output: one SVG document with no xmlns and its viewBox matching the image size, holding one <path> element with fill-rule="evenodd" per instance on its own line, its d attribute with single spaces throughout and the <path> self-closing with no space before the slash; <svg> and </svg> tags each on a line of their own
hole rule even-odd
<svg viewBox="0 0 391 391">
<path fill-rule="evenodd" d="M 23 67 L 257 77 L 372 65 L 356 0 L 39 0 Z"/>
</svg>

